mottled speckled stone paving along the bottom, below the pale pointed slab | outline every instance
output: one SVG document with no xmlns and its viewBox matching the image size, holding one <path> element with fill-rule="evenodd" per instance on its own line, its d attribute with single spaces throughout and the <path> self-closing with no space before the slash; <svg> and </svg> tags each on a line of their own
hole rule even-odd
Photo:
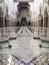
<svg viewBox="0 0 49 65">
<path fill-rule="evenodd" d="M 12 55 L 0 54 L 0 65 L 49 65 L 49 53 L 41 54 L 29 63 Z"/>
</svg>

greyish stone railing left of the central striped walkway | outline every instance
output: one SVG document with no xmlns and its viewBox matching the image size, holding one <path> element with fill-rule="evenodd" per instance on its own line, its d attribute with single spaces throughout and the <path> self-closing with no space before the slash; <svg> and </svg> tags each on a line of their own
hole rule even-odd
<svg viewBox="0 0 49 65">
<path fill-rule="evenodd" d="M 0 28 L 0 36 L 9 36 L 12 33 L 17 33 L 21 27 L 5 27 Z"/>
</svg>

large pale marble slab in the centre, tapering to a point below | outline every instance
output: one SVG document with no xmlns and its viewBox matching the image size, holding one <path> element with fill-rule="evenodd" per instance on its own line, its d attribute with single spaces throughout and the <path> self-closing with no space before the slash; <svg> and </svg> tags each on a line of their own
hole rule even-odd
<svg viewBox="0 0 49 65">
<path fill-rule="evenodd" d="M 20 37 L 10 43 L 13 46 L 11 49 L 12 54 L 28 63 L 41 53 L 41 49 L 38 47 L 39 43 L 33 38 Z"/>
</svg>

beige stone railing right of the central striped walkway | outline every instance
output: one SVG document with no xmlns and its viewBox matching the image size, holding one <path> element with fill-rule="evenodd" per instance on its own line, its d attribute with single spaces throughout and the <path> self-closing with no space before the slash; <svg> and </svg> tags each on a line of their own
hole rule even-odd
<svg viewBox="0 0 49 65">
<path fill-rule="evenodd" d="M 28 27 L 33 34 L 37 34 L 39 37 L 49 38 L 49 28 L 47 27 Z"/>
</svg>

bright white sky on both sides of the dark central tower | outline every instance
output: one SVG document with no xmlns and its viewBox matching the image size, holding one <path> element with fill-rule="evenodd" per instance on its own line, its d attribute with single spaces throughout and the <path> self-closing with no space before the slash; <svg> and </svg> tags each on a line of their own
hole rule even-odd
<svg viewBox="0 0 49 65">
<path fill-rule="evenodd" d="M 17 13 L 17 5 L 18 3 L 14 3 L 13 0 L 5 0 L 8 4 L 9 15 L 12 17 L 16 16 Z M 30 2 L 30 12 L 32 12 L 32 17 L 36 17 L 39 14 L 39 6 L 43 3 L 43 0 L 34 0 L 34 2 Z"/>
</svg>

